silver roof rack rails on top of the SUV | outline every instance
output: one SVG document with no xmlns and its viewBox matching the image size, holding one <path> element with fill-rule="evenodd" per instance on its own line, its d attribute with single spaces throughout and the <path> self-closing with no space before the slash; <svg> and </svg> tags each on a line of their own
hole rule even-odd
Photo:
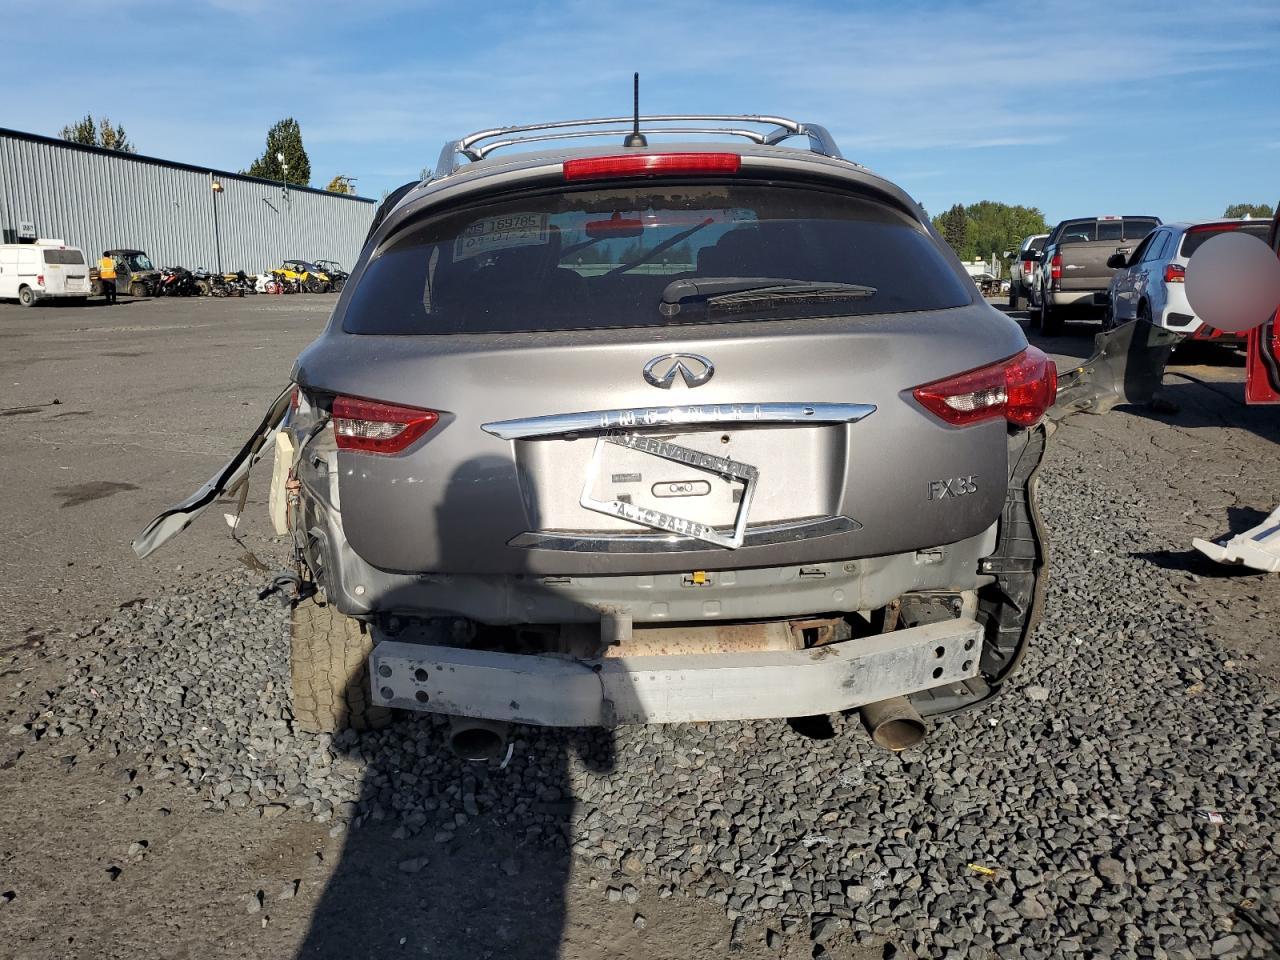
<svg viewBox="0 0 1280 960">
<path fill-rule="evenodd" d="M 756 124 L 771 129 L 756 131 L 742 127 L 644 127 L 643 124 L 671 124 L 671 123 L 717 123 L 717 124 Z M 609 127 L 609 124 L 627 124 L 625 128 Z M 448 177 L 462 166 L 462 160 L 483 160 L 494 150 L 518 146 L 521 143 L 538 143 L 548 140 L 577 140 L 581 137 L 614 137 L 636 132 L 632 124 L 639 124 L 640 133 L 676 133 L 676 134 L 719 134 L 724 137 L 745 137 L 755 143 L 773 146 L 791 137 L 808 137 L 809 148 L 835 159 L 842 159 L 840 147 L 832 140 L 826 127 L 815 123 L 800 123 L 786 116 L 763 115 L 735 115 L 735 114 L 663 114 L 655 116 L 596 116 L 585 120 L 556 120 L 553 123 L 531 123 L 520 127 L 494 127 L 488 131 L 476 131 L 466 137 L 449 141 L 440 151 L 440 160 L 435 165 L 435 177 Z M 608 129 L 577 129 L 581 127 Z M 529 134 L 529 136 L 525 136 Z M 485 143 L 485 141 L 493 141 Z"/>
</svg>

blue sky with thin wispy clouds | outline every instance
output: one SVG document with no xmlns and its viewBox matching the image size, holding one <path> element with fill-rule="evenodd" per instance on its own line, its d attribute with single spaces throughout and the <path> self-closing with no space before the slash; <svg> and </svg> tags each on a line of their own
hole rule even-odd
<svg viewBox="0 0 1280 960">
<path fill-rule="evenodd" d="M 931 212 L 1000 200 L 1051 223 L 1172 220 L 1280 200 L 1276 0 L 0 6 L 10 36 L 28 20 L 47 37 L 8 46 L 32 96 L 5 97 L 0 125 L 56 134 L 108 114 L 143 154 L 236 170 L 292 115 L 314 186 L 346 173 L 374 197 L 449 137 L 627 113 L 639 69 L 649 113 L 824 123 Z"/>
</svg>

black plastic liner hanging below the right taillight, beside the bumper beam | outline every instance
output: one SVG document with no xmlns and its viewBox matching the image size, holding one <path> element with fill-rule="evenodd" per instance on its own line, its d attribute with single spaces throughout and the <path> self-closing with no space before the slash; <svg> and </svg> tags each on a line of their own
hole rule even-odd
<svg viewBox="0 0 1280 960">
<path fill-rule="evenodd" d="M 1009 488 L 996 549 L 979 566 L 980 573 L 995 577 L 978 590 L 977 620 L 984 627 L 982 673 L 963 684 L 911 694 L 911 705 L 922 717 L 957 713 L 991 699 L 1027 653 L 1048 584 L 1048 538 L 1036 503 L 1047 442 L 1044 424 L 1009 436 Z"/>
</svg>

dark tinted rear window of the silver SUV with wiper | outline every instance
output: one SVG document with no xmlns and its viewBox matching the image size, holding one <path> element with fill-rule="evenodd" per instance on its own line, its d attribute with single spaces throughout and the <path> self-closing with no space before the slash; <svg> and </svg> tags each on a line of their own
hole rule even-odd
<svg viewBox="0 0 1280 960">
<path fill-rule="evenodd" d="M 861 298 L 705 303 L 675 316 L 686 278 L 777 278 L 874 288 Z M 447 214 L 381 251 L 347 333 L 457 334 L 659 326 L 938 310 L 970 292 L 905 214 L 847 195 L 759 184 L 548 193 Z"/>
</svg>

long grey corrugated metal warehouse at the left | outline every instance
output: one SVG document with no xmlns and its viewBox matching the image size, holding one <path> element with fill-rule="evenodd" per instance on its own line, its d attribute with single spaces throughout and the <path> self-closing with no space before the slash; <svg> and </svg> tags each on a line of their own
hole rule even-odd
<svg viewBox="0 0 1280 960">
<path fill-rule="evenodd" d="M 375 210 L 364 197 L 0 128 L 5 243 L 58 237 L 91 260 L 137 247 L 192 270 L 259 273 L 285 259 L 349 270 Z"/>
</svg>

